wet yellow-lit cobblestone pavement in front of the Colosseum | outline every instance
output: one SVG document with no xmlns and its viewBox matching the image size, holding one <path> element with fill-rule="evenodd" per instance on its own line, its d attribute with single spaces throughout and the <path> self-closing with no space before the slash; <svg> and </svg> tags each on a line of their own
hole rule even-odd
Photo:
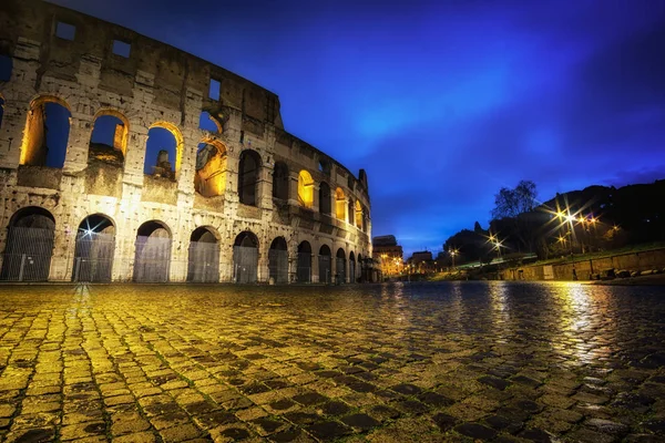
<svg viewBox="0 0 665 443">
<path fill-rule="evenodd" d="M 0 288 L 8 442 L 665 441 L 665 288 Z"/>
</svg>

